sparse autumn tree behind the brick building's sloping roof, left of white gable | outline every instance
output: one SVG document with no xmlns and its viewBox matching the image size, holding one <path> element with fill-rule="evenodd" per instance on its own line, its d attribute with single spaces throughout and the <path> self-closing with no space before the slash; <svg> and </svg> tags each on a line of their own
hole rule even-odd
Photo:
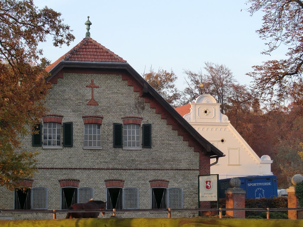
<svg viewBox="0 0 303 227">
<path fill-rule="evenodd" d="M 150 67 L 149 72 L 144 72 L 142 76 L 172 107 L 180 105 L 180 92 L 175 86 L 178 77 L 173 70 L 168 72 L 159 68 L 157 72 Z"/>
</svg>

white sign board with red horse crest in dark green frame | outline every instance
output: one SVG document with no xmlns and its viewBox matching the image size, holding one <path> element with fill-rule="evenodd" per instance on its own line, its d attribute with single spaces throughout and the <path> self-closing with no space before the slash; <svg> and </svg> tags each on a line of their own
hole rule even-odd
<svg viewBox="0 0 303 227">
<path fill-rule="evenodd" d="M 199 175 L 199 201 L 218 201 L 219 175 Z"/>
</svg>

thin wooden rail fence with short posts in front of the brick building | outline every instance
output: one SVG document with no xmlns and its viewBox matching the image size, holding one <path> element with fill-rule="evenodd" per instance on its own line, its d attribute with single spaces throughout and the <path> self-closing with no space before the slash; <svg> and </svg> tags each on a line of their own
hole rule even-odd
<svg viewBox="0 0 303 227">
<path fill-rule="evenodd" d="M 121 209 L 121 210 L 103 210 L 102 212 L 105 213 L 112 213 L 112 216 L 116 216 L 117 212 L 167 212 L 168 218 L 171 218 L 171 214 L 174 211 L 178 212 L 185 212 L 185 211 L 196 211 L 196 212 L 203 212 L 203 211 L 218 211 L 219 212 L 219 218 L 222 218 L 222 211 L 238 211 L 238 210 L 244 210 L 244 211 L 266 211 L 267 219 L 270 218 L 269 213 L 272 211 L 290 211 L 290 210 L 296 210 L 296 211 L 303 211 L 303 208 L 219 208 L 219 209 L 201 209 L 201 208 L 188 208 L 188 209 L 179 209 L 179 208 L 168 208 L 168 209 Z M 0 209 L 1 213 L 52 213 L 53 219 L 56 219 L 57 213 L 67 213 L 67 212 L 100 212 L 100 210 L 13 210 L 13 209 Z"/>
</svg>

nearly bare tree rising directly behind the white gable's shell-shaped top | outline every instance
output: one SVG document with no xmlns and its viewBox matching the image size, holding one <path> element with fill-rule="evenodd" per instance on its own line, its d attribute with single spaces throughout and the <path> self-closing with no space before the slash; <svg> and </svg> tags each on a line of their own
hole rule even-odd
<svg viewBox="0 0 303 227">
<path fill-rule="evenodd" d="M 185 70 L 187 87 L 183 91 L 184 104 L 194 101 L 201 94 L 211 94 L 219 103 L 225 113 L 225 105 L 231 95 L 231 87 L 236 82 L 231 70 L 223 64 L 205 62 L 203 69 L 206 73 Z"/>
</svg>

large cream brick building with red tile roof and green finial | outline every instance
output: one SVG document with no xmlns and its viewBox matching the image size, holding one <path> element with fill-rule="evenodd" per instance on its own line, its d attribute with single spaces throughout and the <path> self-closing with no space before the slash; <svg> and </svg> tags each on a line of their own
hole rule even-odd
<svg viewBox="0 0 303 227">
<path fill-rule="evenodd" d="M 198 207 L 198 175 L 209 174 L 211 160 L 223 153 L 124 59 L 87 32 L 46 70 L 52 83 L 45 99 L 49 112 L 37 125 L 39 134 L 22 138 L 23 150 L 40 152 L 39 171 L 20 182 L 31 187 L 27 193 L 1 187 L 0 209 L 67 209 L 91 198 L 107 201 L 107 209 Z M 2 213 L 3 218 L 52 214 Z"/>
</svg>

